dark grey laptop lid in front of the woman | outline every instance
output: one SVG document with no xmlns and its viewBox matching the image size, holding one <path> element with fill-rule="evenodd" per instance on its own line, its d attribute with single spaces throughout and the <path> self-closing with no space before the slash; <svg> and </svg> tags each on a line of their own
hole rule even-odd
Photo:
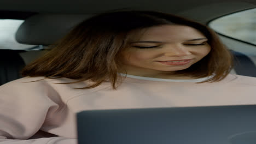
<svg viewBox="0 0 256 144">
<path fill-rule="evenodd" d="M 89 110 L 79 144 L 255 144 L 256 105 Z"/>
</svg>

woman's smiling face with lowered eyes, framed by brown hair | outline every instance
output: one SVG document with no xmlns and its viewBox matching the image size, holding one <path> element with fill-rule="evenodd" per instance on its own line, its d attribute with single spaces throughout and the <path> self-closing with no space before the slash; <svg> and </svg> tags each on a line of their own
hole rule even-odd
<svg viewBox="0 0 256 144">
<path fill-rule="evenodd" d="M 193 27 L 182 25 L 148 28 L 141 39 L 132 40 L 127 48 L 122 52 L 123 68 L 127 74 L 162 78 L 168 78 L 166 72 L 173 78 L 170 71 L 187 69 L 211 51 L 205 35 Z M 159 62 L 180 59 L 191 61 L 183 65 Z"/>
</svg>

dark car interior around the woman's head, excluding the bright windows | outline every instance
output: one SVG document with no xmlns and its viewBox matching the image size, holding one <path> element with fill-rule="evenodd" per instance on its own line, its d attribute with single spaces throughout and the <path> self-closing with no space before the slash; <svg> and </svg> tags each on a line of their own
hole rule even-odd
<svg viewBox="0 0 256 144">
<path fill-rule="evenodd" d="M 179 0 L 179 1 L 10 1 L 0 2 L 0 20 L 24 20 L 15 30 L 15 40 L 27 47 L 4 47 L 0 42 L 0 86 L 21 78 L 20 70 L 49 51 L 48 46 L 61 39 L 79 22 L 109 10 L 156 10 L 209 26 L 209 23 L 230 14 L 256 8 L 255 0 Z M 255 13 L 256 15 L 256 13 Z M 240 21 L 237 19 L 237 21 Z M 256 20 L 254 19 L 254 27 Z M 217 32 L 217 31 L 216 31 Z M 235 56 L 231 74 L 256 77 L 256 45 L 217 32 Z M 256 34 L 254 33 L 254 37 Z M 0 36 L 1 39 L 1 36 Z"/>
</svg>

